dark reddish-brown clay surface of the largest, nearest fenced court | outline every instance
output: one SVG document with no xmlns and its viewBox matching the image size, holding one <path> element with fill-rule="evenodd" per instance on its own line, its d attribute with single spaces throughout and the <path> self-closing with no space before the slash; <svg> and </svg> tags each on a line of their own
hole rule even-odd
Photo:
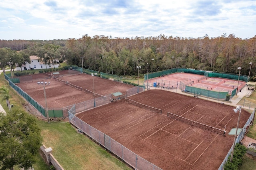
<svg viewBox="0 0 256 170">
<path fill-rule="evenodd" d="M 76 116 L 164 170 L 216 170 L 230 150 L 238 115 L 234 107 L 162 90 L 128 97 L 162 114 L 121 99 Z M 226 136 L 188 125 L 167 112 L 224 129 Z M 239 128 L 250 113 L 242 110 Z"/>
</svg>

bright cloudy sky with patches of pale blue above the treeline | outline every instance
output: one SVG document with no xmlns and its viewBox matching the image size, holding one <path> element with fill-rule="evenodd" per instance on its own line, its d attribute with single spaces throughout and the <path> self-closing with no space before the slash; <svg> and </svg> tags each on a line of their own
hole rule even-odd
<svg viewBox="0 0 256 170">
<path fill-rule="evenodd" d="M 0 0 L 1 40 L 256 36 L 256 0 Z"/>
</svg>

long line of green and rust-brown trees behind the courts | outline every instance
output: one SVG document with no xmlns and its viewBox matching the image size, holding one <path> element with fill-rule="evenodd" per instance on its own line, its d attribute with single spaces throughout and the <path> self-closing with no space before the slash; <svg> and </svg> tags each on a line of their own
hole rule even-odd
<svg viewBox="0 0 256 170">
<path fill-rule="evenodd" d="M 70 65 L 82 67 L 83 63 L 86 69 L 134 78 L 137 66 L 141 66 L 140 77 L 147 73 L 148 67 L 149 72 L 184 67 L 237 74 L 237 68 L 241 67 L 241 74 L 248 75 L 250 62 L 250 77 L 256 74 L 256 36 L 241 39 L 234 34 L 223 34 L 210 38 L 206 34 L 201 38 L 180 38 L 160 34 L 112 38 L 85 34 L 82 38 L 68 40 L 0 40 L 0 47 L 1 68 L 9 58 L 14 61 L 22 54 L 20 63 L 30 55 L 37 55 L 44 63 L 60 59 Z M 4 55 L 8 57 L 1 62 Z"/>
</svg>

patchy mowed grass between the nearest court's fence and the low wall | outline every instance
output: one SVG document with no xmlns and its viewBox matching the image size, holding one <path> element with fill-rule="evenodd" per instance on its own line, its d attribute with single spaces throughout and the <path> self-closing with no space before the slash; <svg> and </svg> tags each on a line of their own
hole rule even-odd
<svg viewBox="0 0 256 170">
<path fill-rule="evenodd" d="M 43 143 L 65 170 L 130 170 L 126 164 L 90 140 L 68 122 L 38 121 Z"/>
</svg>

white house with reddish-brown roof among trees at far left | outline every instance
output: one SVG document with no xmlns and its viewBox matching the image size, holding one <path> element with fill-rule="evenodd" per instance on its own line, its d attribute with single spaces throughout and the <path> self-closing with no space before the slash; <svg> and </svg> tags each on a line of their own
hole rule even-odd
<svg viewBox="0 0 256 170">
<path fill-rule="evenodd" d="M 58 68 L 60 65 L 60 62 L 58 60 L 55 60 L 56 64 L 50 63 L 50 64 L 44 64 L 42 61 L 40 61 L 40 57 L 37 57 L 35 55 L 30 56 L 30 63 L 26 62 L 26 64 L 22 65 L 22 70 L 33 70 L 33 69 L 51 69 L 51 68 Z M 47 66 L 47 67 L 46 67 Z M 16 65 L 16 69 L 18 71 L 21 71 L 21 68 Z"/>
</svg>

